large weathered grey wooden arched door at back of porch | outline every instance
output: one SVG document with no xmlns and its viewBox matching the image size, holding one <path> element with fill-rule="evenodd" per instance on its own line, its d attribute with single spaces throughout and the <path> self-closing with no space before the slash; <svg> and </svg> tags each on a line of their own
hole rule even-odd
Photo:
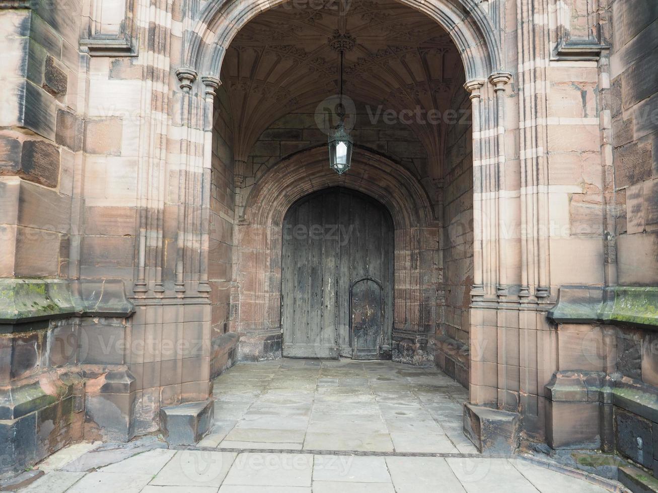
<svg viewBox="0 0 658 493">
<path fill-rule="evenodd" d="M 393 235 L 388 210 L 349 189 L 291 206 L 282 231 L 284 356 L 390 358 Z"/>
</svg>

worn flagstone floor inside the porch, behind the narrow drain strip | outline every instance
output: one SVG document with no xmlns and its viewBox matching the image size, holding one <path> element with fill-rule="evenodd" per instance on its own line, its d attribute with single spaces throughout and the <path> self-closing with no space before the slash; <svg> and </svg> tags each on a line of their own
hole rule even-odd
<svg viewBox="0 0 658 493">
<path fill-rule="evenodd" d="M 467 390 L 434 368 L 390 361 L 274 360 L 215 379 L 218 448 L 474 454 Z"/>
</svg>

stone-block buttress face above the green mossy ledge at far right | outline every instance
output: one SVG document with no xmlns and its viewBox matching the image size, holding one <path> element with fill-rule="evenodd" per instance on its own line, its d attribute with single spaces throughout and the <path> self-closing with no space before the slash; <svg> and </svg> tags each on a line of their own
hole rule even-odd
<svg viewBox="0 0 658 493">
<path fill-rule="evenodd" d="M 615 0 L 610 57 L 619 283 L 658 279 L 658 5 Z M 624 208 L 625 206 L 625 208 Z M 625 212 L 625 213 L 624 213 Z"/>
</svg>

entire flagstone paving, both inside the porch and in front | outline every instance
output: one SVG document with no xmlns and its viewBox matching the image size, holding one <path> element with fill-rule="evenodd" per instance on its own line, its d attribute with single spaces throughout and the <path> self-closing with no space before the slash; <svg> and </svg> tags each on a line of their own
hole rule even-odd
<svg viewBox="0 0 658 493">
<path fill-rule="evenodd" d="M 197 447 L 171 450 L 154 436 L 76 444 L 21 491 L 606 491 L 520 457 L 477 454 L 461 432 L 466 399 L 442 372 L 392 362 L 238 364 L 215 380 L 215 426 Z"/>
</svg>

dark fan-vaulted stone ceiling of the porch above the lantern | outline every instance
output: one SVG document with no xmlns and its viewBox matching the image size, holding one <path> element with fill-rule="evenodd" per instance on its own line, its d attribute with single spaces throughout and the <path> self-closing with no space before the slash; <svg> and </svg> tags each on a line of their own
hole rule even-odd
<svg viewBox="0 0 658 493">
<path fill-rule="evenodd" d="M 338 93 L 339 55 L 329 45 L 336 32 L 355 39 L 345 53 L 345 95 L 397 112 L 449 109 L 455 85 L 463 83 L 461 60 L 449 35 L 425 14 L 395 0 L 293 2 L 254 18 L 226 53 L 222 83 L 232 105 L 236 158 L 245 159 L 278 118 Z M 324 6 L 311 8 L 318 2 Z M 442 126 L 409 126 L 430 162 L 439 160 Z"/>
</svg>

